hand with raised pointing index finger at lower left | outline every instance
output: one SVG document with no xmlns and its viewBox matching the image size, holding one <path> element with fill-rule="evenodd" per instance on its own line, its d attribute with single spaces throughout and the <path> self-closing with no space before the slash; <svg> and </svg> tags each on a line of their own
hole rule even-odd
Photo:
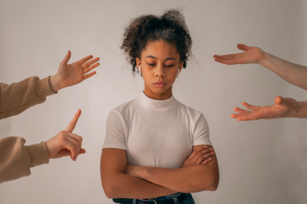
<svg viewBox="0 0 307 204">
<path fill-rule="evenodd" d="M 80 115 L 81 110 L 79 109 L 65 131 L 59 132 L 46 142 L 49 158 L 70 156 L 73 161 L 76 161 L 79 154 L 85 153 L 85 150 L 81 148 L 82 137 L 72 133 Z"/>
</svg>

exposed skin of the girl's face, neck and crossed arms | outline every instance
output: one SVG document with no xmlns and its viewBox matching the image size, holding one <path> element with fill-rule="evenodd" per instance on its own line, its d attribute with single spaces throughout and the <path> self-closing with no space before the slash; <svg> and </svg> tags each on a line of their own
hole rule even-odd
<svg viewBox="0 0 307 204">
<path fill-rule="evenodd" d="M 136 63 L 138 67 L 141 65 L 144 93 L 149 98 L 166 100 L 172 96 L 172 85 L 178 69 L 181 70 L 183 66 L 179 59 L 179 53 L 171 44 L 162 40 L 148 43 Z M 157 81 L 165 85 L 156 87 L 154 83 Z M 215 190 L 219 173 L 217 159 L 212 152 L 212 146 L 193 146 L 182 168 L 149 169 L 127 164 L 124 150 L 105 148 L 100 163 L 102 187 L 108 198 L 134 199 L 155 198 L 176 192 Z"/>
</svg>

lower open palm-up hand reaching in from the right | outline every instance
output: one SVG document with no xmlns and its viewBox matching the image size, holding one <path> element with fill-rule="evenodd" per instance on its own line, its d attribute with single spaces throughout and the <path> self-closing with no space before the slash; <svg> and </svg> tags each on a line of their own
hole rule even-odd
<svg viewBox="0 0 307 204">
<path fill-rule="evenodd" d="M 277 96 L 275 104 L 270 106 L 254 106 L 247 102 L 243 102 L 242 105 L 251 111 L 235 107 L 234 111 L 238 113 L 232 114 L 231 118 L 236 118 L 237 121 L 288 118 L 295 117 L 298 109 L 298 102 L 295 99 L 280 96 Z"/>
</svg>

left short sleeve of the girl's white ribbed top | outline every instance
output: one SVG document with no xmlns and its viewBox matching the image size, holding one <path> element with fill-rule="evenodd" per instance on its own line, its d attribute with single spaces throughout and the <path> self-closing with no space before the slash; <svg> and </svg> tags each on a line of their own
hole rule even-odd
<svg viewBox="0 0 307 204">
<path fill-rule="evenodd" d="M 126 150 L 124 125 L 118 110 L 111 110 L 106 125 L 106 135 L 102 149 L 116 148 Z"/>
</svg>

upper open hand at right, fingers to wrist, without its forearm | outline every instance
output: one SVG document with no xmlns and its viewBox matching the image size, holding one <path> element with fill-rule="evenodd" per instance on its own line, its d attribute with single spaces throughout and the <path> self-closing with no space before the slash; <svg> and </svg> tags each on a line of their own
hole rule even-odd
<svg viewBox="0 0 307 204">
<path fill-rule="evenodd" d="M 226 55 L 214 55 L 216 62 L 222 64 L 234 65 L 234 64 L 261 64 L 264 59 L 264 51 L 257 47 L 249 47 L 244 44 L 238 44 L 238 49 L 245 52 Z"/>
</svg>

